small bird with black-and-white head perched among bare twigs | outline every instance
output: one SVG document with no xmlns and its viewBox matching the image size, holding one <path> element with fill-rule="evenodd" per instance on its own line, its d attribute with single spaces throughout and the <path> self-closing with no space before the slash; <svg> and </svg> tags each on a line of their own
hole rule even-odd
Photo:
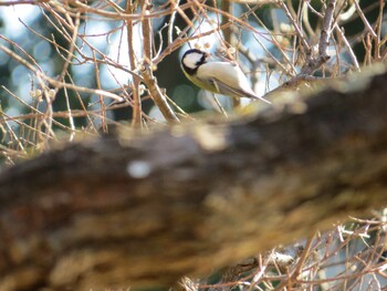
<svg viewBox="0 0 387 291">
<path fill-rule="evenodd" d="M 242 70 L 231 62 L 208 61 L 209 53 L 191 49 L 181 58 L 185 75 L 197 86 L 231 97 L 249 97 L 269 101 L 258 96 L 250 87 Z"/>
</svg>

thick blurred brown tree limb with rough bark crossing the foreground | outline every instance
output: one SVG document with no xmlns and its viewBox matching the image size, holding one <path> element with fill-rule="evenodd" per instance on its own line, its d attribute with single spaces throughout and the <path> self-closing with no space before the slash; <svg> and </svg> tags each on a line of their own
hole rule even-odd
<svg viewBox="0 0 387 291">
<path fill-rule="evenodd" d="M 386 108 L 387 73 L 363 74 L 245 119 L 6 169 L 0 290 L 168 287 L 387 206 Z"/>
</svg>

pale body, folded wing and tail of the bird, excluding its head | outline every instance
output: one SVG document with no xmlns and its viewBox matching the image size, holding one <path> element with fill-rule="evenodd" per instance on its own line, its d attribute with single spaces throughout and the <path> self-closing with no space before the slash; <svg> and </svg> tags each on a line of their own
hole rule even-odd
<svg viewBox="0 0 387 291">
<path fill-rule="evenodd" d="M 236 64 L 227 62 L 209 62 L 199 66 L 197 75 L 200 75 L 200 79 L 203 81 L 210 81 L 221 94 L 232 97 L 245 96 L 270 103 L 258 96 L 252 91 L 248 79 Z"/>
</svg>

